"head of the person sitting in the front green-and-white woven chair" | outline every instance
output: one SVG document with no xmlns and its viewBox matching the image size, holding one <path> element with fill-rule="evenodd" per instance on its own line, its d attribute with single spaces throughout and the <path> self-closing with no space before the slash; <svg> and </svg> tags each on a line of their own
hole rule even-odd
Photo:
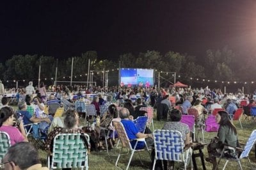
<svg viewBox="0 0 256 170">
<path fill-rule="evenodd" d="M 79 124 L 79 116 L 74 109 L 68 109 L 65 113 L 64 125 L 66 128 L 77 128 Z"/>
</svg>

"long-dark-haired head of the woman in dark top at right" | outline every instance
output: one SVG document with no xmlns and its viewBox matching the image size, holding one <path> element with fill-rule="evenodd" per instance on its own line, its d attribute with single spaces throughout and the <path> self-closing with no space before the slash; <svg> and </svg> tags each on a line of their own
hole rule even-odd
<svg viewBox="0 0 256 170">
<path fill-rule="evenodd" d="M 234 133 L 237 134 L 236 127 L 230 121 L 228 112 L 218 111 L 218 113 L 216 114 L 216 123 L 218 123 L 220 126 L 227 126 L 228 128 L 231 128 Z"/>
</svg>

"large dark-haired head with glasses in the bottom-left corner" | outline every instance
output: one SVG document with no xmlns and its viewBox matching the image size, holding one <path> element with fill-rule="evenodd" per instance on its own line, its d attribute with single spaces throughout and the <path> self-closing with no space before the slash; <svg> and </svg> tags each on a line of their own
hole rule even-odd
<svg viewBox="0 0 256 170">
<path fill-rule="evenodd" d="M 28 169 L 35 164 L 41 164 L 40 157 L 33 144 L 20 142 L 11 146 L 3 158 L 4 169 Z"/>
</svg>

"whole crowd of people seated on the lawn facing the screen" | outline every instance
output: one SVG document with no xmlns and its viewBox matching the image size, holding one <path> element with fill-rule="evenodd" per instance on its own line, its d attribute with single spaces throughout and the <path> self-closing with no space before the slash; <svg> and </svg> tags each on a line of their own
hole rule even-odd
<svg viewBox="0 0 256 170">
<path fill-rule="evenodd" d="M 0 87 L 1 89 L 1 87 Z M 49 95 L 47 95 L 49 91 Z M 246 101 L 248 107 L 255 106 L 253 94 L 244 95 L 243 93 L 221 93 L 220 89 L 207 88 L 127 88 L 127 87 L 112 87 L 112 88 L 100 88 L 85 86 L 49 86 L 45 87 L 44 83 L 40 84 L 39 88 L 33 87 L 33 82 L 29 82 L 28 86 L 24 89 L 17 89 L 19 93 L 18 98 L 18 112 L 22 118 L 19 121 L 18 127 L 13 126 L 14 121 L 18 120 L 16 112 L 8 105 L 8 98 L 4 97 L 4 91 L 1 92 L 1 109 L 0 109 L 0 131 L 6 132 L 10 135 L 10 140 L 13 150 L 15 147 L 19 147 L 18 143 L 28 142 L 26 135 L 26 125 L 31 123 L 39 123 L 39 128 L 47 128 L 51 126 L 53 121 L 53 115 L 50 115 L 45 111 L 47 105 L 52 103 L 60 104 L 65 108 L 61 121 L 62 126 L 52 127 L 45 140 L 45 147 L 49 154 L 52 152 L 52 143 L 56 134 L 61 133 L 80 133 L 84 134 L 87 131 L 86 127 L 81 127 L 79 124 L 79 112 L 75 109 L 74 102 L 84 102 L 85 104 L 93 104 L 97 111 L 97 115 L 102 116 L 100 122 L 93 130 L 93 137 L 99 137 L 95 139 L 95 150 L 105 150 L 102 142 L 100 141 L 100 127 L 109 128 L 113 127 L 112 120 L 120 119 L 124 125 L 125 131 L 130 140 L 138 137 L 147 137 L 152 144 L 153 137 L 152 132 L 147 130 L 147 134 L 139 132 L 132 120 L 138 118 L 138 116 L 147 116 L 147 112 L 140 111 L 141 107 L 154 107 L 159 111 L 161 105 L 165 105 L 170 111 L 170 121 L 164 123 L 163 129 L 166 130 L 179 130 L 184 139 L 184 144 L 191 143 L 190 130 L 188 125 L 180 123 L 182 114 L 188 114 L 189 108 L 195 108 L 199 115 L 211 114 L 214 109 L 222 108 L 225 111 L 219 111 L 216 115 L 216 123 L 220 125 L 218 135 L 215 138 L 216 141 L 226 143 L 230 146 L 237 146 L 238 137 L 236 127 L 230 121 L 230 115 L 236 112 L 241 100 Z M 18 95 L 17 95 L 18 96 Z M 75 98 L 76 97 L 76 98 Z M 108 111 L 100 114 L 100 105 L 108 107 Z M 175 109 L 175 106 L 180 105 L 181 109 Z M 122 107 L 120 112 L 117 111 L 117 107 Z M 54 114 L 54 113 L 53 113 Z M 157 112 L 159 114 L 159 112 Z M 82 115 L 83 116 L 83 115 Z M 158 116 L 158 115 L 157 115 Z M 96 119 L 92 117 L 92 120 Z M 157 120 L 161 120 L 163 117 L 157 117 Z M 92 130 L 92 129 L 91 129 Z M 115 144 L 116 134 L 113 138 L 109 138 L 109 148 L 113 148 Z M 23 143 L 24 144 L 24 143 Z M 134 142 L 131 142 L 134 147 Z M 25 144 L 26 145 L 26 144 Z M 86 146 L 90 149 L 92 141 L 87 141 Z M 31 147 L 28 145 L 28 147 Z M 144 148 L 144 143 L 138 143 L 136 149 Z M 221 147 L 221 146 L 220 146 Z M 209 157 L 206 159 L 216 166 L 216 158 L 213 156 L 216 152 L 211 144 L 207 148 L 209 151 Z M 33 150 L 33 148 L 31 148 Z M 10 151 L 6 153 L 6 157 L 9 157 Z M 154 155 L 154 154 L 153 154 Z M 16 160 L 12 160 L 16 162 Z M 11 162 L 10 162 L 11 164 Z M 38 162 L 40 164 L 40 162 Z M 19 166 L 19 164 L 16 164 Z M 32 165 L 30 165 L 32 166 Z M 39 165 L 40 166 L 40 165 Z M 41 167 L 41 166 L 40 166 Z"/>
</svg>

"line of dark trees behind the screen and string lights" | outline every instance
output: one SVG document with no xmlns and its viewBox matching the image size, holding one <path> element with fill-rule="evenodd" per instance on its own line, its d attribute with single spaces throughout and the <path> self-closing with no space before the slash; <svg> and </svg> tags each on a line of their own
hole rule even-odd
<svg viewBox="0 0 256 170">
<path fill-rule="evenodd" d="M 169 51 L 161 54 L 156 50 L 147 50 L 138 55 L 125 53 L 120 55 L 118 61 L 112 59 L 99 59 L 96 51 L 87 51 L 81 56 L 67 59 L 57 59 L 52 56 L 17 55 L 0 63 L 0 74 L 2 81 L 13 80 L 37 80 L 38 68 L 41 66 L 40 77 L 47 79 L 47 83 L 53 84 L 56 66 L 58 66 L 58 81 L 70 81 L 71 63 L 74 58 L 73 81 L 87 81 L 88 60 L 90 59 L 90 70 L 109 70 L 109 86 L 118 83 L 118 68 L 152 68 L 162 72 L 176 72 L 177 80 L 187 83 L 189 77 L 198 79 L 211 79 L 217 81 L 252 81 L 256 68 L 256 58 L 246 56 L 247 59 L 236 55 L 232 50 L 224 47 L 220 50 L 207 50 L 204 58 L 196 58 L 188 54 Z M 113 71 L 112 71 L 113 70 Z M 161 74 L 163 79 L 171 75 Z M 64 78 L 65 77 L 65 78 Z M 51 79 L 53 78 L 53 79 Z M 102 84 L 102 73 L 95 73 L 93 81 Z M 101 81 L 101 82 L 100 82 Z M 156 81 L 157 76 L 156 76 Z M 168 84 L 168 83 L 166 83 Z"/>
</svg>

